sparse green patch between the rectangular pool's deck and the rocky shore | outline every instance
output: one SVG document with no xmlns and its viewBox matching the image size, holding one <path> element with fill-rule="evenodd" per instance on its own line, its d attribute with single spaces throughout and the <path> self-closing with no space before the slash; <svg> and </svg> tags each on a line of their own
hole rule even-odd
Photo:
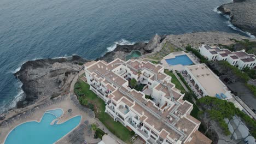
<svg viewBox="0 0 256 144">
<path fill-rule="evenodd" d="M 182 49 L 175 47 L 174 45 L 172 45 L 170 42 L 167 41 L 165 45 L 162 47 L 162 50 L 160 52 L 155 53 L 154 55 L 149 56 L 148 58 L 161 61 L 163 57 L 167 56 L 171 52 L 176 52 L 176 51 L 182 51 Z"/>
</svg>

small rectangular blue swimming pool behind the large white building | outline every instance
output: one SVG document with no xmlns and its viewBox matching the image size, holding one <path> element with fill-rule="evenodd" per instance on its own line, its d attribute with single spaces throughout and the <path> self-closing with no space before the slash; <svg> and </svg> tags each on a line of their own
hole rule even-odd
<svg viewBox="0 0 256 144">
<path fill-rule="evenodd" d="M 190 64 L 194 64 L 187 55 L 176 56 L 175 58 L 165 59 L 165 61 L 170 65 L 177 65 L 177 64 L 190 65 Z"/>
</svg>

